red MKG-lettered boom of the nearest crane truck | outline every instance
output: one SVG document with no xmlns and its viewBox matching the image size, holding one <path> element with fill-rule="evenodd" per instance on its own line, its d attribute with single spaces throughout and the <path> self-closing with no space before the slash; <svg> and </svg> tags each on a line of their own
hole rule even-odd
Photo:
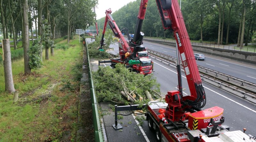
<svg viewBox="0 0 256 142">
<path fill-rule="evenodd" d="M 205 104 L 205 93 L 178 1 L 156 0 L 156 3 L 164 29 L 173 30 L 186 73 L 190 96 L 184 96 L 182 100 L 190 102 L 194 107 L 202 108 Z"/>
</svg>

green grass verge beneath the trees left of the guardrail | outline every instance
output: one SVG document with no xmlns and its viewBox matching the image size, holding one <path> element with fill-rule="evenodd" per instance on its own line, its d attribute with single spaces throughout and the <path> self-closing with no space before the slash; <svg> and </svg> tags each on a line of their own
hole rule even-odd
<svg viewBox="0 0 256 142">
<path fill-rule="evenodd" d="M 79 87 L 74 68 L 81 61 L 82 48 L 77 37 L 69 44 L 60 42 L 69 48 L 55 49 L 54 56 L 43 60 L 44 67 L 30 76 L 23 75 L 23 59 L 12 62 L 18 102 L 13 103 L 13 94 L 4 91 L 4 69 L 0 67 L 0 142 L 60 141 L 65 130 L 75 139 Z M 61 91 L 67 82 L 72 88 Z"/>
</svg>

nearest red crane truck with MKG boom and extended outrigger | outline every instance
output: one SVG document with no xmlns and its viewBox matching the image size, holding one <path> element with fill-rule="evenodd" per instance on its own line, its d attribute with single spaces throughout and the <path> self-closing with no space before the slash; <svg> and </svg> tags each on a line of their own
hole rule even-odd
<svg viewBox="0 0 256 142">
<path fill-rule="evenodd" d="M 141 4 L 148 0 L 141 0 Z M 206 96 L 202 80 L 197 69 L 195 56 L 185 27 L 177 0 L 156 0 L 164 29 L 172 30 L 188 81 L 190 95 L 182 94 L 181 71 L 178 71 L 178 90 L 168 91 L 165 102 L 152 101 L 144 107 L 150 130 L 155 131 L 158 142 L 256 142 L 256 138 L 242 131 L 229 131 L 227 125 L 221 125 L 223 108 L 212 107 L 202 110 Z M 115 124 L 117 111 L 138 110 L 139 105 L 115 106 Z M 246 129 L 244 129 L 245 131 Z"/>
</svg>

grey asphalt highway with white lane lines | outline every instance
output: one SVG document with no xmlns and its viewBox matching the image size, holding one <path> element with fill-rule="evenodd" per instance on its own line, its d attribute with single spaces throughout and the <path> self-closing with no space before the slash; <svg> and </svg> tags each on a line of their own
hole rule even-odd
<svg viewBox="0 0 256 142">
<path fill-rule="evenodd" d="M 171 56 L 176 56 L 176 51 L 175 49 L 172 49 L 166 45 L 160 45 L 160 44 L 155 44 L 155 43 L 148 43 L 148 42 L 144 42 L 144 46 L 147 47 L 148 49 L 153 49 Z M 118 45 L 112 44 L 110 45 L 110 48 L 113 48 L 114 50 L 110 50 L 109 53 L 112 54 L 117 54 L 118 53 Z M 165 52 L 164 52 L 165 51 Z M 208 61 L 209 60 L 209 61 Z M 154 61 L 154 60 L 153 60 Z M 220 64 L 221 63 L 221 64 Z M 222 65 L 225 64 L 225 65 Z M 239 78 L 246 78 L 247 76 L 253 77 L 250 78 L 248 77 L 247 81 L 250 81 L 250 79 L 253 82 L 256 82 L 256 76 L 255 76 L 255 68 L 253 67 L 246 67 L 246 66 L 242 66 L 242 64 L 236 64 L 236 63 L 229 63 L 227 61 L 221 61 L 219 59 L 212 59 L 207 57 L 205 61 L 197 61 L 197 64 L 211 68 L 213 70 L 216 69 L 220 69 L 220 72 L 223 72 L 225 68 L 230 67 L 232 68 L 230 70 L 230 72 L 232 72 L 234 75 L 232 76 L 239 76 Z M 208 65 L 210 64 L 210 65 Z M 95 66 L 97 65 L 97 62 L 95 62 Z M 212 66 L 211 66 L 212 65 Z M 226 66 L 228 65 L 228 66 Z M 103 66 L 109 66 L 109 64 L 104 64 Z M 213 67 L 214 66 L 214 67 Z M 223 66 L 223 67 L 222 67 Z M 241 72 L 239 73 L 239 71 L 236 71 L 239 68 L 241 69 Z M 222 71 L 223 70 L 223 71 Z M 245 71 L 246 70 L 246 71 Z M 169 90 L 177 90 L 177 71 L 176 69 L 162 64 L 161 62 L 158 61 L 154 61 L 154 76 L 156 77 L 158 83 L 161 84 L 161 92 L 162 95 L 165 95 L 167 93 L 167 91 Z M 246 74 L 243 75 L 242 71 Z M 226 72 L 223 72 L 226 73 Z M 228 73 L 226 73 L 228 74 Z M 182 85 L 183 88 L 186 88 L 184 90 L 184 95 L 188 94 L 189 95 L 189 88 L 188 88 L 188 84 L 185 78 L 184 73 L 182 73 L 183 77 L 182 77 Z M 231 74 L 229 74 L 231 75 Z M 241 98 L 238 98 L 236 96 L 234 96 L 233 94 L 230 94 L 228 92 L 225 92 L 223 90 L 221 90 L 218 87 L 214 87 L 210 84 L 204 83 L 204 90 L 206 93 L 206 106 L 203 109 L 207 109 L 207 108 L 211 108 L 214 106 L 219 106 L 220 108 L 224 109 L 224 113 L 223 116 L 225 117 L 225 122 L 224 124 L 228 125 L 230 127 L 230 131 L 235 131 L 235 130 L 243 130 L 243 128 L 246 128 L 247 134 L 251 134 L 253 136 L 256 135 L 256 129 L 255 129 L 255 123 L 256 123 L 256 106 L 252 103 L 249 103 Z M 105 117 L 105 118 L 104 118 Z M 113 120 L 114 117 L 113 115 L 110 115 L 109 117 L 107 116 L 103 116 L 104 119 L 104 123 L 106 125 L 106 135 L 108 138 L 108 141 L 151 141 L 154 142 L 156 141 L 155 139 L 155 133 L 150 131 L 148 129 L 148 124 L 146 121 L 144 121 L 144 124 L 141 126 L 142 130 L 141 132 L 136 129 L 134 126 L 130 126 L 128 124 L 121 124 L 123 126 L 125 126 L 123 128 L 123 132 L 125 132 L 125 137 L 128 137 L 128 139 L 126 138 L 118 138 L 118 135 L 123 135 L 120 134 L 120 131 L 113 131 L 113 128 L 110 127 L 109 124 L 113 124 Z M 134 123 L 134 120 L 131 120 L 132 116 L 124 116 L 124 122 L 126 121 L 126 119 L 129 119 L 129 122 L 131 122 L 132 124 Z M 111 121 L 111 122 L 109 122 Z M 128 127 L 127 127 L 128 125 Z M 132 127 L 132 129 L 131 129 Z M 129 131 L 128 131 L 129 130 Z M 133 132 L 134 131 L 134 132 Z M 136 133 L 135 133 L 136 131 Z M 143 131 L 143 132 L 142 132 Z M 144 135 L 145 133 L 145 135 Z M 139 137 L 140 136 L 140 137 Z"/>
</svg>

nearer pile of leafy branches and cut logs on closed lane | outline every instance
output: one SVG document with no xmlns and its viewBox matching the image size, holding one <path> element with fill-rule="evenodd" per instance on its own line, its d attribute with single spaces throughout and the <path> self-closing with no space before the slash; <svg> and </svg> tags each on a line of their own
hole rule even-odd
<svg viewBox="0 0 256 142">
<path fill-rule="evenodd" d="M 99 67 L 93 79 L 98 102 L 141 104 L 161 97 L 160 84 L 153 75 L 130 72 L 122 64 L 116 64 L 115 69 Z"/>
</svg>

